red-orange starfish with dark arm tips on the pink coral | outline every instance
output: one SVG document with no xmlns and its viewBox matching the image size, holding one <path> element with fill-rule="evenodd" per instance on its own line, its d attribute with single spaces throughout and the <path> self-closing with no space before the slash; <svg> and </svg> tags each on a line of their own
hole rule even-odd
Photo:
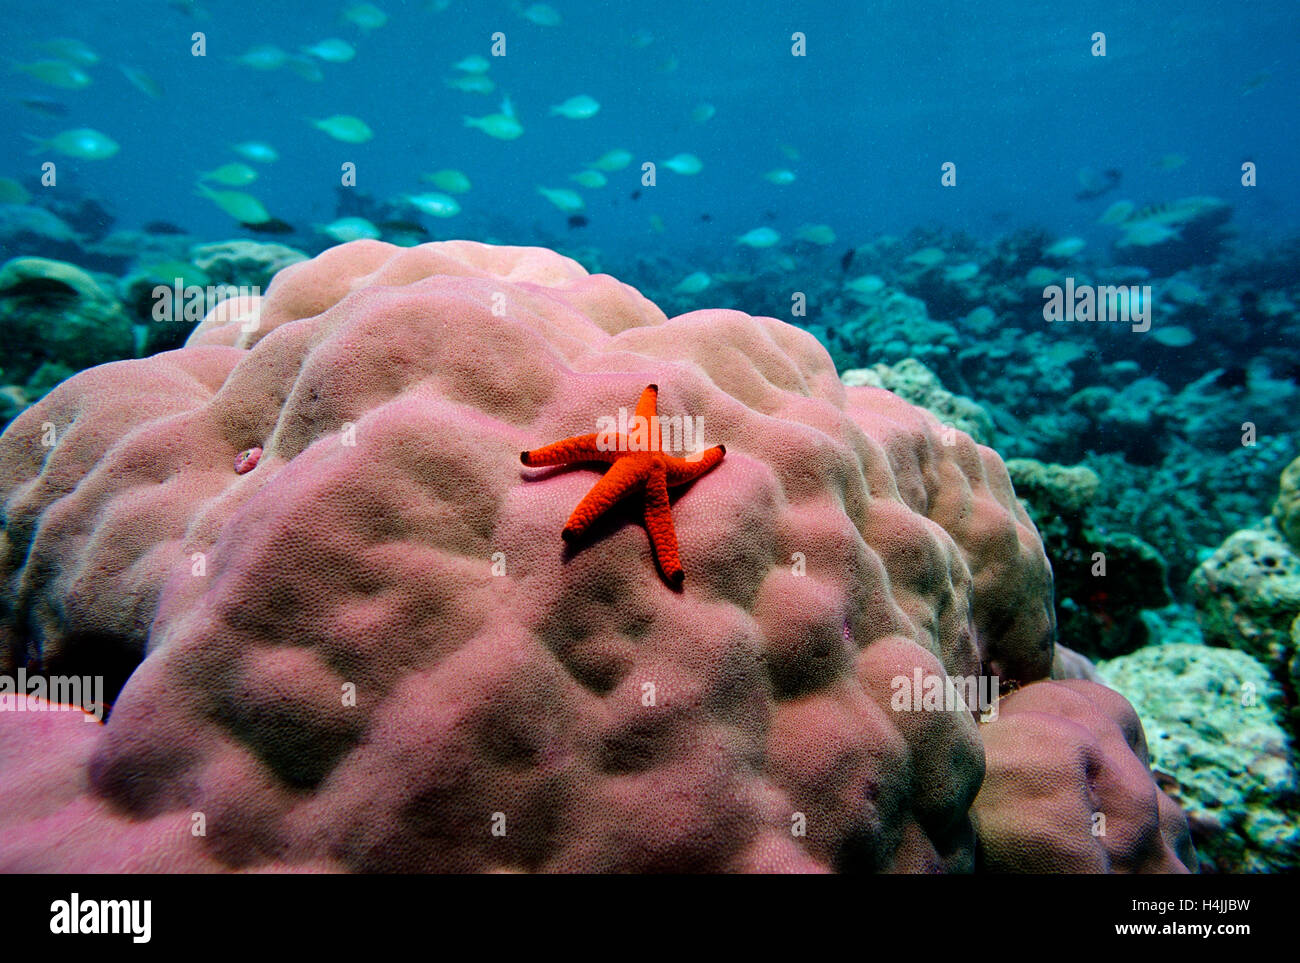
<svg viewBox="0 0 1300 963">
<path fill-rule="evenodd" d="M 610 470 L 595 483 L 564 522 L 560 535 L 572 542 L 586 532 L 624 495 L 645 490 L 646 532 L 664 578 L 680 587 L 686 573 L 677 555 L 677 533 L 672 528 L 668 508 L 668 489 L 694 481 L 715 468 L 727 448 L 712 448 L 693 454 L 689 459 L 663 454 L 663 438 L 658 429 L 659 386 L 650 385 L 641 392 L 628 434 L 595 431 L 573 435 L 554 444 L 520 452 L 519 460 L 530 468 L 541 465 L 572 465 L 581 461 L 606 461 Z M 636 418 L 644 418 L 637 422 Z M 642 426 L 646 430 L 642 430 Z M 630 435 L 630 438 L 629 438 Z"/>
</svg>

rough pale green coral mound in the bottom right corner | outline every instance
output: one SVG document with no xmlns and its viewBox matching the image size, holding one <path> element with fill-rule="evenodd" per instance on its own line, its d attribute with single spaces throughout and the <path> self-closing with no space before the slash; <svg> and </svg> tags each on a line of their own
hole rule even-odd
<svg viewBox="0 0 1300 963">
<path fill-rule="evenodd" d="M 1206 872 L 1300 863 L 1300 798 L 1280 686 L 1245 652 L 1149 646 L 1097 665 L 1138 710 L 1157 780 L 1186 811 Z"/>
</svg>

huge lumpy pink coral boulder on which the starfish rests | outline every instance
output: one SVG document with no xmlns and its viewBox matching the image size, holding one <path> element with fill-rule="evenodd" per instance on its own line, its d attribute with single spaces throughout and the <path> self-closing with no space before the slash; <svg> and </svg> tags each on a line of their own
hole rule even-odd
<svg viewBox="0 0 1300 963">
<path fill-rule="evenodd" d="M 566 545 L 599 470 L 520 465 L 651 383 L 727 452 L 671 493 L 680 590 L 642 503 Z M 897 681 L 1053 659 L 992 450 L 790 325 L 542 248 L 286 268 L 23 412 L 0 496 L 3 668 L 112 703 L 0 712 L 0 869 L 966 871 L 980 726 Z M 1045 685 L 1013 698 L 1074 706 Z M 1176 868 L 1148 823 L 1110 863 Z"/>
</svg>

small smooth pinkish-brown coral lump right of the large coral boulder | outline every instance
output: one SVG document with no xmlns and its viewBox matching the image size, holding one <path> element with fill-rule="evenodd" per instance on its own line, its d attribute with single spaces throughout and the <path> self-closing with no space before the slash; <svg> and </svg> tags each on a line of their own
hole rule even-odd
<svg viewBox="0 0 1300 963">
<path fill-rule="evenodd" d="M 1152 781 L 1141 723 L 1118 693 L 1084 680 L 1036 682 L 1002 699 L 982 734 L 982 868 L 1196 869 L 1187 817 Z"/>
</svg>

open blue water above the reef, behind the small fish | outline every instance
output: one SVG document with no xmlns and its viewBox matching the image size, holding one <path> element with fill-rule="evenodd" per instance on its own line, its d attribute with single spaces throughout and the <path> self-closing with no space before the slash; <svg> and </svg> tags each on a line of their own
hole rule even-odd
<svg viewBox="0 0 1300 963">
<path fill-rule="evenodd" d="M 1096 217 L 1117 199 L 1209 194 L 1234 205 L 1244 235 L 1294 234 L 1300 225 L 1294 1 L 556 0 L 559 26 L 538 26 L 507 3 L 439 5 L 384 0 L 389 22 L 367 34 L 341 19 L 343 3 L 207 0 L 199 17 L 161 1 L 57 4 L 39 14 L 30 4 L 0 4 L 6 60 L 39 58 L 31 43 L 56 36 L 83 39 L 103 57 L 83 90 L 3 77 L 0 174 L 32 185 L 47 152 L 30 156 L 25 134 L 95 127 L 121 152 L 56 157 L 55 190 L 96 198 L 117 227 L 165 220 L 222 238 L 247 231 L 195 196 L 196 172 L 238 160 L 229 146 L 256 139 L 281 157 L 254 165 L 261 177 L 242 190 L 303 231 L 337 216 L 344 161 L 358 166 L 355 190 L 378 201 L 436 190 L 419 175 L 455 168 L 474 187 L 458 217 L 420 218 L 432 238 L 581 239 L 623 257 L 702 259 L 706 269 L 762 224 L 783 233 L 827 224 L 848 244 L 918 225 L 982 238 L 1041 225 L 1100 246 L 1113 231 Z M 451 65 L 489 56 L 498 30 L 507 56 L 491 58 L 497 92 L 448 90 Z M 1089 53 L 1097 30 L 1106 34 L 1104 58 Z M 190 53 L 194 31 L 205 34 L 205 57 Z M 805 57 L 790 55 L 794 31 L 807 38 Z M 330 36 L 358 56 L 321 64 L 320 83 L 233 61 L 255 44 L 295 52 Z M 138 91 L 118 64 L 146 70 L 165 96 Z M 520 139 L 463 125 L 464 114 L 495 112 L 503 94 L 524 125 Z M 576 94 L 595 97 L 601 112 L 584 121 L 549 116 Z M 17 99 L 26 96 L 55 100 L 66 116 L 23 108 Z M 696 123 L 701 103 L 716 114 Z M 363 118 L 373 140 L 339 143 L 304 120 L 335 113 Z M 569 174 L 615 147 L 636 162 L 607 187 L 580 188 L 589 225 L 571 230 L 537 185 L 573 187 Z M 633 200 L 640 164 L 681 151 L 703 170 L 681 177 L 660 168 L 658 186 Z M 1162 170 L 1166 155 L 1186 164 Z M 1254 188 L 1239 183 L 1244 160 L 1258 165 Z M 957 165 L 953 188 L 940 186 L 945 161 Z M 767 183 L 762 174 L 777 168 L 797 181 Z M 1080 168 L 1119 169 L 1122 185 L 1079 201 Z M 662 231 L 651 230 L 651 216 Z"/>
</svg>

